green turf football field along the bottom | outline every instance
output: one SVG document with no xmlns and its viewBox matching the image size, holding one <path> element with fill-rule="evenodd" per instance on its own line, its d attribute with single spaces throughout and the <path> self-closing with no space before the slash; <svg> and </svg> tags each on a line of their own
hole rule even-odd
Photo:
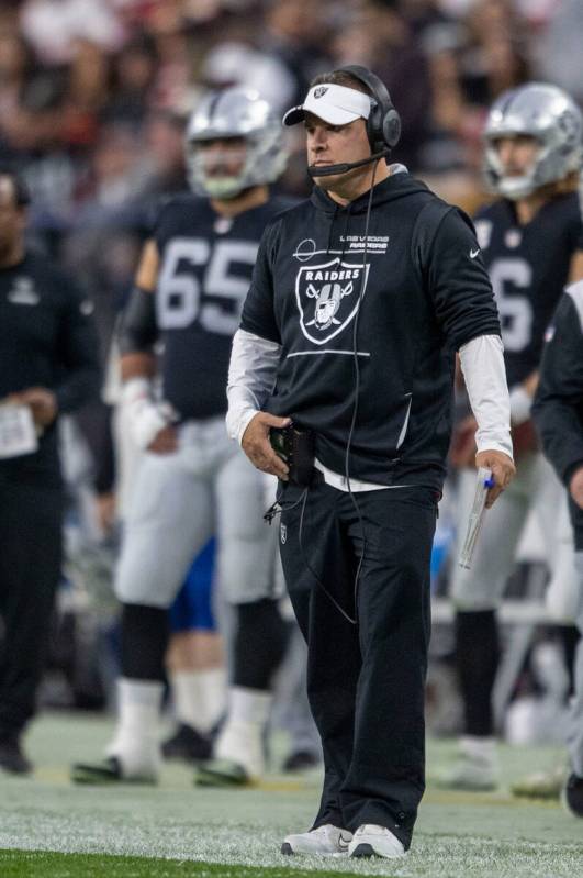
<svg viewBox="0 0 583 878">
<path fill-rule="evenodd" d="M 188 768 L 169 765 L 156 788 L 72 787 L 69 763 L 99 756 L 110 729 L 105 720 L 65 714 L 33 725 L 27 747 L 34 777 L 0 775 L 0 878 L 583 876 L 583 821 L 558 804 L 519 802 L 507 789 L 438 790 L 431 778 L 453 755 L 449 742 L 429 742 L 428 789 L 414 844 L 392 863 L 280 855 L 282 837 L 306 829 L 315 812 L 317 771 L 272 773 L 256 789 L 208 790 L 192 786 Z M 562 758 L 558 748 L 503 747 L 505 781 Z"/>
</svg>

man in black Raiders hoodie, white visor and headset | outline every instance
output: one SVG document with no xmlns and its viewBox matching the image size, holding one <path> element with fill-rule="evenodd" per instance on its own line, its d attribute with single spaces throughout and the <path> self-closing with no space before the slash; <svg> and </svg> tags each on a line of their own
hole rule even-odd
<svg viewBox="0 0 583 878">
<path fill-rule="evenodd" d="M 424 790 L 429 556 L 456 351 L 489 505 L 514 473 L 500 323 L 469 220 L 385 162 L 400 120 L 383 84 L 362 67 L 317 77 L 284 119 L 299 121 L 316 186 L 264 234 L 227 415 L 281 480 L 281 556 L 324 747 L 313 829 L 282 849 L 397 857 Z M 313 435 L 309 486 L 269 441 L 290 423 Z"/>
</svg>

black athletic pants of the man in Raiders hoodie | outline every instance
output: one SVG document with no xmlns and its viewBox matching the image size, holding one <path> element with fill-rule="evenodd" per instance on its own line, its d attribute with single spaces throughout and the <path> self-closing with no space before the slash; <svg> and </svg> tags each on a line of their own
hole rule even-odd
<svg viewBox="0 0 583 878">
<path fill-rule="evenodd" d="M 437 494 L 424 487 L 359 492 L 362 529 L 347 492 L 321 482 L 309 489 L 305 504 L 302 492 L 294 485 L 280 491 L 280 548 L 307 641 L 307 694 L 324 749 L 314 826 L 333 823 L 354 832 L 374 823 L 408 847 L 425 789 L 424 689 Z M 354 618 L 362 533 L 354 625 L 324 588 Z"/>
</svg>

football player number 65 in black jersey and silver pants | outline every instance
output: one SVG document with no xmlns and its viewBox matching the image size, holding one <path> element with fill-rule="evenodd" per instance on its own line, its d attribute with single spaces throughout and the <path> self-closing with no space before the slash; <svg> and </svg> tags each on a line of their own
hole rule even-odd
<svg viewBox="0 0 583 878">
<path fill-rule="evenodd" d="M 189 123 L 187 162 L 194 193 L 160 210 L 122 325 L 123 400 L 145 454 L 115 581 L 123 604 L 117 726 L 105 763 L 74 768 L 80 782 L 156 780 L 167 611 L 213 533 L 237 633 L 228 715 L 215 746 L 221 765 L 210 767 L 209 782 L 261 774 L 270 678 L 285 646 L 273 536 L 262 521 L 265 478 L 224 424 L 232 336 L 259 240 L 288 207 L 269 193 L 285 163 L 279 120 L 255 92 L 212 93 Z"/>
</svg>

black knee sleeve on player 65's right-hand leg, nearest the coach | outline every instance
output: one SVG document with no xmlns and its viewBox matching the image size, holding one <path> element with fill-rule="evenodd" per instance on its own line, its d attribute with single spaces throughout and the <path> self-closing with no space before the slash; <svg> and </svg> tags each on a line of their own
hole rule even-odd
<svg viewBox="0 0 583 878">
<path fill-rule="evenodd" d="M 233 683 L 266 691 L 285 654 L 290 624 L 271 599 L 239 603 L 236 609 Z"/>
</svg>

